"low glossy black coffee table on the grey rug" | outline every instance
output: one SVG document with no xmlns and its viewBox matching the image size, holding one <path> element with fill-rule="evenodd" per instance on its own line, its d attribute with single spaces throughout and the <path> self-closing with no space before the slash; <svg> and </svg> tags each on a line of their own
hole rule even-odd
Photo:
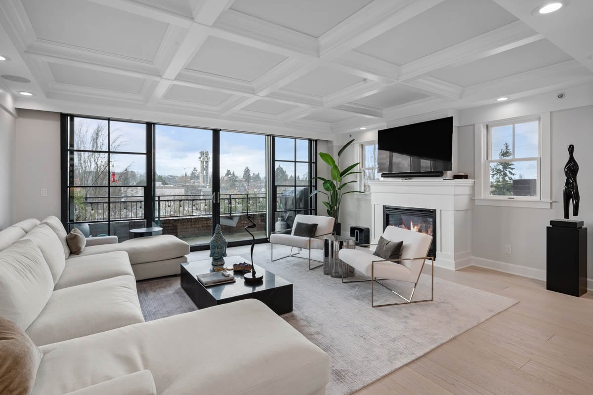
<svg viewBox="0 0 593 395">
<path fill-rule="evenodd" d="M 244 272 L 232 272 L 235 282 L 204 287 L 197 281 L 196 275 L 213 272 L 212 260 L 194 261 L 181 264 L 181 288 L 192 299 L 198 309 L 231 303 L 243 299 L 257 299 L 266 304 L 276 314 L 292 311 L 292 283 L 270 271 L 256 265 L 256 271 L 263 273 L 263 281 L 259 284 L 247 284 L 243 280 Z M 224 266 L 232 268 L 233 264 L 247 262 L 241 256 L 228 256 Z"/>
</svg>

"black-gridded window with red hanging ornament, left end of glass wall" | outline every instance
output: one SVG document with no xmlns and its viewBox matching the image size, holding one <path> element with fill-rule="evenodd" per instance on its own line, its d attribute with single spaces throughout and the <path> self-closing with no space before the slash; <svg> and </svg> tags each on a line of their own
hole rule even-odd
<svg viewBox="0 0 593 395">
<path fill-rule="evenodd" d="M 130 229 L 144 227 L 146 217 L 152 216 L 151 205 L 146 205 L 152 180 L 146 123 L 62 116 L 66 229 L 128 239 Z"/>
</svg>

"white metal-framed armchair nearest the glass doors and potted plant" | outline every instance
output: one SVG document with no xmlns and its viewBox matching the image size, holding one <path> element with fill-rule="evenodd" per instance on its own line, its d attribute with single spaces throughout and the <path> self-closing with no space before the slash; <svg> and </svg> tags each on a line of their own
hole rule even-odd
<svg viewBox="0 0 593 395">
<path fill-rule="evenodd" d="M 315 236 L 313 237 L 301 237 L 295 236 L 295 226 L 297 222 L 300 223 L 316 223 L 317 230 L 315 230 Z M 278 232 L 272 232 L 269 237 L 269 242 L 272 245 L 272 249 L 270 251 L 270 256 L 272 262 L 278 261 L 279 259 L 288 258 L 289 256 L 295 256 L 296 258 L 304 258 L 303 256 L 298 256 L 301 253 L 302 249 L 307 249 L 309 251 L 309 270 L 318 268 L 319 266 L 323 266 L 322 261 L 317 261 L 317 259 L 311 259 L 311 250 L 318 249 L 323 250 L 323 236 L 332 235 L 333 232 L 333 224 L 334 218 L 333 217 L 325 217 L 325 216 L 308 216 L 305 214 L 297 214 L 295 220 L 292 224 L 291 229 L 279 230 Z M 282 258 L 274 259 L 274 245 L 279 244 L 283 246 L 289 246 L 291 248 L 291 252 L 286 255 L 282 256 Z M 292 249 L 298 248 L 298 253 L 292 254 Z M 321 265 L 311 267 L 311 261 L 320 262 Z"/>
</svg>

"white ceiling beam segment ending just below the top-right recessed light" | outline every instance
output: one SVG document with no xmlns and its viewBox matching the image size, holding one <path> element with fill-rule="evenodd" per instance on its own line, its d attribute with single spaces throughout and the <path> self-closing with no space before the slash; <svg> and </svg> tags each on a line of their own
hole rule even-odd
<svg viewBox="0 0 593 395">
<path fill-rule="evenodd" d="M 544 38 L 533 29 L 515 21 L 488 31 L 400 67 L 400 79 L 420 78 L 447 66 L 460 66 L 487 56 L 505 52 Z"/>
</svg>

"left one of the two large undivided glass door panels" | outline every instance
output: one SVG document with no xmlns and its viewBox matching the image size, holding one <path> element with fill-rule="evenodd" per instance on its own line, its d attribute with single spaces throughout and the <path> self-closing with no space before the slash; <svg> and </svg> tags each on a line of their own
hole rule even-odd
<svg viewBox="0 0 593 395">
<path fill-rule="evenodd" d="M 165 235 L 206 246 L 218 220 L 218 130 L 154 126 L 154 222 Z"/>
</svg>

